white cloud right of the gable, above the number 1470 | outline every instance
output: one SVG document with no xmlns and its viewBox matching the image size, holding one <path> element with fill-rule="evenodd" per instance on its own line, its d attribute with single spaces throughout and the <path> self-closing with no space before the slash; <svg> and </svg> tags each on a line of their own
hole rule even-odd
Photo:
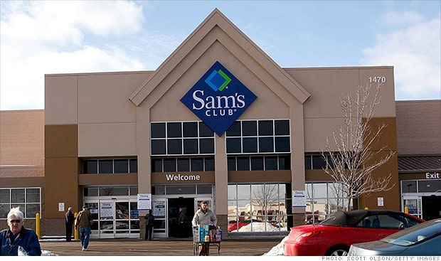
<svg viewBox="0 0 441 261">
<path fill-rule="evenodd" d="M 392 18 L 395 17 L 395 18 Z M 417 14 L 389 13 L 385 21 L 401 17 L 410 26 L 377 36 L 376 46 L 363 50 L 364 65 L 393 65 L 396 100 L 441 99 L 441 21 L 423 21 Z"/>
</svg>

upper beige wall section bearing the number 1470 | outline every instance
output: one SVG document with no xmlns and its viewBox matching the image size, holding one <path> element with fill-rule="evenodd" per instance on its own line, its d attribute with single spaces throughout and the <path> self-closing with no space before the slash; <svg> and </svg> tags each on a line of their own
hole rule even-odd
<svg viewBox="0 0 441 261">
<path fill-rule="evenodd" d="M 338 130 L 343 126 L 344 112 L 340 107 L 340 99 L 344 95 L 354 97 L 356 87 L 366 86 L 369 77 L 386 77 L 380 92 L 381 103 L 376 106 L 374 117 L 395 117 L 395 90 L 391 66 L 285 70 L 311 93 L 311 97 L 304 103 L 305 152 L 325 149 L 326 137 L 333 137 L 332 129 Z M 376 85 L 372 85 L 370 97 L 373 97 L 375 87 Z"/>
</svg>

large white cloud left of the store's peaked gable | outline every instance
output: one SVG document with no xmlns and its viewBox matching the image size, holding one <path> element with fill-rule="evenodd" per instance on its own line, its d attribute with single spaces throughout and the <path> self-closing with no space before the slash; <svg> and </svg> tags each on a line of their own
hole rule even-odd
<svg viewBox="0 0 441 261">
<path fill-rule="evenodd" d="M 44 108 L 44 75 L 142 70 L 119 46 L 92 46 L 85 34 L 140 31 L 142 6 L 128 1 L 1 3 L 0 110 Z"/>
</svg>

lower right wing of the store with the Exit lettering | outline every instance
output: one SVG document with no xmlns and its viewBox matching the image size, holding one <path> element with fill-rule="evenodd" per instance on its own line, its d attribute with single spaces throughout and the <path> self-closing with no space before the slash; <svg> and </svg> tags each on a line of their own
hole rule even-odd
<svg viewBox="0 0 441 261">
<path fill-rule="evenodd" d="M 401 206 L 430 220 L 441 217 L 441 102 L 396 102 Z"/>
</svg>

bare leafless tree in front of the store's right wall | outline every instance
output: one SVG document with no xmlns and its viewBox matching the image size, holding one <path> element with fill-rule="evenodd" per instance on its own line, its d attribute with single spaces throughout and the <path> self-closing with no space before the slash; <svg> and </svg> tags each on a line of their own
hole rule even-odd
<svg viewBox="0 0 441 261">
<path fill-rule="evenodd" d="M 372 85 L 358 86 L 355 98 L 344 95 L 340 100 L 341 110 L 344 112 L 344 125 L 339 131 L 332 130 L 336 151 L 333 151 L 329 140 L 326 138 L 326 152 L 322 156 L 326 160 L 326 169 L 336 182 L 341 183 L 346 196 L 347 209 L 351 206 L 351 199 L 361 195 L 368 196 L 378 191 L 388 191 L 391 174 L 380 179 L 373 179 L 371 173 L 379 166 L 385 164 L 395 151 L 389 150 L 385 156 L 376 157 L 387 151 L 386 144 L 380 149 L 373 150 L 378 138 L 387 124 L 379 124 L 378 128 L 371 126 L 371 119 L 376 105 L 380 103 L 380 90 L 382 85 L 376 86 L 373 98 L 369 100 Z"/>
</svg>

